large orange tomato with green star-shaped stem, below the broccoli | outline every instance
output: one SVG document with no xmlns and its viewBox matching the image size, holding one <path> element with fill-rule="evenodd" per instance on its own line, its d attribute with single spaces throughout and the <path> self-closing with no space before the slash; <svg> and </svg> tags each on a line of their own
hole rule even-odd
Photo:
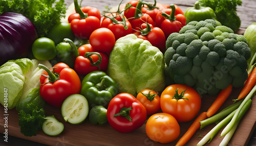
<svg viewBox="0 0 256 146">
<path fill-rule="evenodd" d="M 179 122 L 185 122 L 199 113 L 201 97 L 192 87 L 173 84 L 162 92 L 160 104 L 163 112 L 173 115 Z"/>
</svg>

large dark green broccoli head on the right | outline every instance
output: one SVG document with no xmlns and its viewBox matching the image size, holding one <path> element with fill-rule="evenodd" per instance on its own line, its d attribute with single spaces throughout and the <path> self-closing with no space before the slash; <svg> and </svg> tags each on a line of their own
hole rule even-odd
<svg viewBox="0 0 256 146">
<path fill-rule="evenodd" d="M 215 95 L 229 84 L 244 84 L 250 56 L 243 35 L 212 19 L 191 21 L 166 40 L 165 74 L 176 84 Z"/>
</svg>

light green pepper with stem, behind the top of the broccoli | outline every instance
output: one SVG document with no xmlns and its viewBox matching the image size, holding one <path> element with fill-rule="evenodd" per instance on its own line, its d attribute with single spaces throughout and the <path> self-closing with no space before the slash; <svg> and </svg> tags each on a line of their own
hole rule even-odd
<svg viewBox="0 0 256 146">
<path fill-rule="evenodd" d="M 190 21 L 201 21 L 205 19 L 216 20 L 214 10 L 210 7 L 199 6 L 199 2 L 195 2 L 195 7 L 189 7 L 185 10 L 186 24 Z"/>
</svg>

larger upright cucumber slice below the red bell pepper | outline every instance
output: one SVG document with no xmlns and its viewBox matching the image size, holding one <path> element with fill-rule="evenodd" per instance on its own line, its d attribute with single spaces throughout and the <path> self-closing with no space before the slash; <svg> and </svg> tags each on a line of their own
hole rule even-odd
<svg viewBox="0 0 256 146">
<path fill-rule="evenodd" d="M 62 103 L 61 114 L 70 124 L 81 124 L 89 113 L 87 99 L 81 94 L 72 94 Z"/>
</svg>

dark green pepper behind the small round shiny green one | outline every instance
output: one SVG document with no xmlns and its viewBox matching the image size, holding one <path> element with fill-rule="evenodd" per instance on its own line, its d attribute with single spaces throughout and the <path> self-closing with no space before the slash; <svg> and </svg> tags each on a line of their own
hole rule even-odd
<svg viewBox="0 0 256 146">
<path fill-rule="evenodd" d="M 75 35 L 71 30 L 70 23 L 59 22 L 49 31 L 47 37 L 52 39 L 54 43 L 57 45 L 60 42 L 62 42 L 64 38 L 74 40 Z"/>
</svg>

